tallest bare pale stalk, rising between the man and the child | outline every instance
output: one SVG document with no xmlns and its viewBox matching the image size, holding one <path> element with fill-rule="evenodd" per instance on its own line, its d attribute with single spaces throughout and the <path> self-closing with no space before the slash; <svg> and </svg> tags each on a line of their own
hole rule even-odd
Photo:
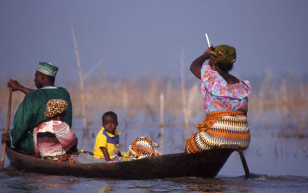
<svg viewBox="0 0 308 193">
<path fill-rule="evenodd" d="M 82 117 L 83 117 L 83 127 L 84 127 L 84 132 L 83 132 L 83 139 L 82 139 L 82 148 L 86 147 L 86 139 L 89 134 L 88 127 L 87 127 L 87 118 L 86 118 L 86 99 L 84 95 L 84 88 L 83 88 L 83 77 L 82 77 L 82 72 L 81 72 L 81 67 L 80 67 L 80 56 L 79 52 L 77 49 L 77 41 L 76 41 L 76 36 L 74 32 L 74 26 L 71 25 L 71 34 L 73 36 L 73 41 L 74 41 L 74 50 L 76 54 L 76 60 L 77 60 L 77 68 L 79 72 L 79 80 L 80 80 L 80 98 L 81 98 L 81 105 L 82 105 Z"/>
</svg>

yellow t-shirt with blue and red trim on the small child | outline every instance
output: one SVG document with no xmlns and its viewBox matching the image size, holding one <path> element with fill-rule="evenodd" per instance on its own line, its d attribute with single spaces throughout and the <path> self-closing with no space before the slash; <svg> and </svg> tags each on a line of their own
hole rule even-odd
<svg viewBox="0 0 308 193">
<path fill-rule="evenodd" d="M 94 145 L 94 157 L 96 158 L 105 158 L 103 151 L 100 147 L 106 147 L 109 157 L 111 160 L 115 159 L 116 155 L 119 152 L 119 135 L 120 132 L 115 130 L 115 135 L 107 132 L 104 127 L 102 127 L 95 139 Z"/>
</svg>

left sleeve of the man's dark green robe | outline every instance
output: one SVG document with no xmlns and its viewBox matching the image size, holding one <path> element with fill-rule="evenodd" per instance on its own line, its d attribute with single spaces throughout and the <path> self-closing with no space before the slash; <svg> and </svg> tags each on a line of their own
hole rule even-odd
<svg viewBox="0 0 308 193">
<path fill-rule="evenodd" d="M 13 130 L 10 132 L 10 146 L 13 149 L 19 149 L 22 139 L 29 137 L 30 124 L 33 118 L 33 100 L 32 92 L 26 94 L 22 103 L 19 105 L 13 122 Z"/>
</svg>

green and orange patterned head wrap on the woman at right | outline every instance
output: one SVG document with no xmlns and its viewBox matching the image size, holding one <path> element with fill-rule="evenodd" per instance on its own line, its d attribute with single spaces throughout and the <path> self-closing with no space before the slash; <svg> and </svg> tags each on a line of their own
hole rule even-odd
<svg viewBox="0 0 308 193">
<path fill-rule="evenodd" d="M 228 45 L 216 46 L 211 51 L 211 57 L 218 63 L 232 65 L 236 60 L 235 48 Z"/>
</svg>

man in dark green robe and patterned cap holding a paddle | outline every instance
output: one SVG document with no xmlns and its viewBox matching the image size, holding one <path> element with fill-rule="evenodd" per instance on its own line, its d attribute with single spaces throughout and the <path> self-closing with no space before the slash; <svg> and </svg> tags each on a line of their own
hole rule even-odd
<svg viewBox="0 0 308 193">
<path fill-rule="evenodd" d="M 33 155 L 33 129 L 39 123 L 47 120 L 44 112 L 50 99 L 64 99 L 67 101 L 68 107 L 63 121 L 70 127 L 72 126 L 70 94 L 65 88 L 54 86 L 57 71 L 58 67 L 51 65 L 51 63 L 39 62 L 34 75 L 36 90 L 26 88 L 16 80 L 9 80 L 8 87 L 12 87 L 13 91 L 20 90 L 26 96 L 15 113 L 13 130 L 9 134 L 2 134 L 2 143 L 9 143 L 10 148 L 20 153 Z"/>
</svg>

